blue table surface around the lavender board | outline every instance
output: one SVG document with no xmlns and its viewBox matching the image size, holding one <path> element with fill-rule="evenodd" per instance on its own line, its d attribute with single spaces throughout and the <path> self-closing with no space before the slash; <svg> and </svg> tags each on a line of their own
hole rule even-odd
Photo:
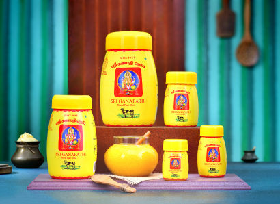
<svg viewBox="0 0 280 204">
<path fill-rule="evenodd" d="M 12 174 L 0 175 L 0 203 L 280 203 L 280 163 L 228 163 L 227 173 L 238 175 L 252 190 L 27 190 L 46 173 L 46 162 L 37 169 L 13 166 Z"/>
</svg>

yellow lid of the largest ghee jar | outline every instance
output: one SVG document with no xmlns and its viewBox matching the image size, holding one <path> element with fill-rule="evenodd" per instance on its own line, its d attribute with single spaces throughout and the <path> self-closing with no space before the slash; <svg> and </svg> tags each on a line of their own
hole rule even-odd
<svg viewBox="0 0 280 204">
<path fill-rule="evenodd" d="M 106 50 L 109 49 L 152 50 L 152 36 L 145 32 L 113 32 L 106 37 Z"/>
</svg>

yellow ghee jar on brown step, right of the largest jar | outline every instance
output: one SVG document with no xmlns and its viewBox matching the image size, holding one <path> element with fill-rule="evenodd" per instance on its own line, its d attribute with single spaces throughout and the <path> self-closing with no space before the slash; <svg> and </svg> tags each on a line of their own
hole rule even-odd
<svg viewBox="0 0 280 204">
<path fill-rule="evenodd" d="M 195 127 L 198 123 L 197 73 L 167 72 L 164 120 L 169 127 Z"/>
</svg>

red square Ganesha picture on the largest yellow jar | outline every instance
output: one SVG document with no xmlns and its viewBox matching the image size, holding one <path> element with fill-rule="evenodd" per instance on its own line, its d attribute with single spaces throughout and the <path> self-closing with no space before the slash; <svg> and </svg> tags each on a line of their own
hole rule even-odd
<svg viewBox="0 0 280 204">
<path fill-rule="evenodd" d="M 141 97 L 143 95 L 141 68 L 115 70 L 115 97 Z"/>
</svg>

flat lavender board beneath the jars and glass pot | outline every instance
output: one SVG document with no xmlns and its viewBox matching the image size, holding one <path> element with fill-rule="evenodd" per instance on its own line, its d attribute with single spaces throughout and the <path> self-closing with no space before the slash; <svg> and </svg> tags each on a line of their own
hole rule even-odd
<svg viewBox="0 0 280 204">
<path fill-rule="evenodd" d="M 113 178 L 114 179 L 114 178 Z M 114 179 L 119 183 L 126 183 Z M 156 179 L 143 181 L 133 185 L 136 190 L 250 190 L 251 187 L 235 174 L 227 174 L 221 178 L 204 178 L 198 174 L 188 175 L 186 181 L 165 181 Z M 62 180 L 52 179 L 48 174 L 40 174 L 27 187 L 31 190 L 118 190 L 113 186 L 94 183 L 92 179 Z"/>
</svg>

